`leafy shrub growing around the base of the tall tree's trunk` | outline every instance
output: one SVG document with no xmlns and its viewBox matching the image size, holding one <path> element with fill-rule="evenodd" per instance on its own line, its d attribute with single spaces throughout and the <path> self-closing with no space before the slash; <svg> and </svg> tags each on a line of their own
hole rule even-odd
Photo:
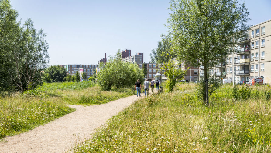
<svg viewBox="0 0 271 153">
<path fill-rule="evenodd" d="M 219 78 L 216 78 L 215 76 L 210 76 L 208 80 L 208 94 L 211 96 L 218 88 L 221 87 L 221 81 Z M 199 82 L 196 84 L 195 91 L 197 93 L 197 97 L 205 102 L 204 95 L 206 94 L 206 82 L 203 78 L 200 78 Z"/>
</svg>

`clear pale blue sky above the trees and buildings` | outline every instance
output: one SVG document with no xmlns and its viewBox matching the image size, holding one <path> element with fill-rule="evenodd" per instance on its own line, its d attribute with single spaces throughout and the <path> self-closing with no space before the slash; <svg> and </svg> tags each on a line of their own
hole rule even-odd
<svg viewBox="0 0 271 153">
<path fill-rule="evenodd" d="M 271 18 L 270 0 L 243 0 L 255 25 Z M 243 2 L 241 1 L 241 2 Z M 97 64 L 118 49 L 149 54 L 169 17 L 169 0 L 11 0 L 24 22 L 32 18 L 49 43 L 49 65 Z"/>
</svg>

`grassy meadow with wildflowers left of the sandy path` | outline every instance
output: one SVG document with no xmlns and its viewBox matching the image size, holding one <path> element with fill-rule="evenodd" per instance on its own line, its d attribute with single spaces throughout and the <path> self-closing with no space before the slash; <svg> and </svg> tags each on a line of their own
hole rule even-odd
<svg viewBox="0 0 271 153">
<path fill-rule="evenodd" d="M 133 88 L 101 91 L 91 81 L 44 83 L 19 92 L 0 94 L 0 139 L 28 131 L 75 111 L 69 104 L 104 104 L 133 95 Z"/>
</svg>

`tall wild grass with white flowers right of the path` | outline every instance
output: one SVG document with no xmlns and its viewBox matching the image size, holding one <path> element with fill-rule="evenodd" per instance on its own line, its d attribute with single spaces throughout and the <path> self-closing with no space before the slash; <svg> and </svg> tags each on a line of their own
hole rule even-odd
<svg viewBox="0 0 271 153">
<path fill-rule="evenodd" d="M 234 99 L 233 87 L 224 85 L 210 106 L 198 100 L 194 87 L 181 84 L 173 93 L 136 101 L 74 152 L 271 151 L 269 86 L 238 87 L 241 96 Z M 246 89 L 249 98 L 242 96 Z"/>
</svg>

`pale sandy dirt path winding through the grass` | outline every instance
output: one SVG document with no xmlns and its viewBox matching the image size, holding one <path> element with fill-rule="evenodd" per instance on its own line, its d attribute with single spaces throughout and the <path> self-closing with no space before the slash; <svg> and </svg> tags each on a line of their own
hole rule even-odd
<svg viewBox="0 0 271 153">
<path fill-rule="evenodd" d="M 136 99 L 136 95 L 132 95 L 102 105 L 70 105 L 76 111 L 29 132 L 6 137 L 7 142 L 0 142 L 0 152 L 65 152 L 78 140 L 91 138 L 95 128 L 104 125 Z"/>
</svg>

